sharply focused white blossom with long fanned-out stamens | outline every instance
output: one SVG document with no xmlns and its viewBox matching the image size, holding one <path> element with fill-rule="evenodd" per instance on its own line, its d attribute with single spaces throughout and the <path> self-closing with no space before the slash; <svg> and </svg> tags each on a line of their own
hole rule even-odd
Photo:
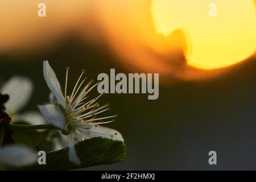
<svg viewBox="0 0 256 182">
<path fill-rule="evenodd" d="M 82 76 L 85 73 L 84 70 L 77 80 L 71 95 L 67 95 L 68 71 L 69 68 L 67 68 L 66 71 L 65 92 L 63 96 L 55 72 L 48 61 L 44 61 L 44 79 L 46 80 L 49 90 L 51 90 L 52 94 L 57 99 L 57 103 L 55 105 L 40 105 L 39 110 L 49 123 L 62 130 L 63 133 L 67 135 L 67 137 L 63 137 L 63 142 L 64 146 L 66 144 L 69 146 L 69 160 L 76 164 L 80 164 L 74 146 L 76 142 L 92 137 L 110 138 L 123 142 L 123 137 L 116 130 L 98 126 L 104 123 L 113 122 L 116 115 L 96 118 L 98 114 L 103 113 L 110 108 L 109 105 L 100 107 L 100 105 L 96 103 L 102 94 L 90 101 L 86 101 L 88 93 L 96 87 L 98 83 L 92 85 L 93 81 L 89 81 L 87 84 L 84 84 L 86 80 L 85 78 L 82 79 Z"/>
</svg>

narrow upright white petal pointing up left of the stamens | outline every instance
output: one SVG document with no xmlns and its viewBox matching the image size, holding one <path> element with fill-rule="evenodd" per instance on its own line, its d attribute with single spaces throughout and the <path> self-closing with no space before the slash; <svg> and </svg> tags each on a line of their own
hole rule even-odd
<svg viewBox="0 0 256 182">
<path fill-rule="evenodd" d="M 48 61 L 44 61 L 43 63 L 43 73 L 44 73 L 44 80 L 46 80 L 46 84 L 48 88 L 51 90 L 53 95 L 57 98 L 62 106 L 65 105 L 66 101 L 61 93 L 60 82 L 58 81 L 55 72 L 49 65 Z"/>
</svg>

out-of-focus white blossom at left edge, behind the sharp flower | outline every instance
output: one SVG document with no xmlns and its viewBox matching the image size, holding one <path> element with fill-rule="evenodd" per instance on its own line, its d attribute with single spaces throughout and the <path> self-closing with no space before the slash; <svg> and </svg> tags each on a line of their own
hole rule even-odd
<svg viewBox="0 0 256 182">
<path fill-rule="evenodd" d="M 13 76 L 1 88 L 1 93 L 9 94 L 9 101 L 6 102 L 6 111 L 12 117 L 12 122 L 26 121 L 31 125 L 46 123 L 46 120 L 36 111 L 28 111 L 18 114 L 30 100 L 34 89 L 32 81 L 27 77 Z"/>
</svg>

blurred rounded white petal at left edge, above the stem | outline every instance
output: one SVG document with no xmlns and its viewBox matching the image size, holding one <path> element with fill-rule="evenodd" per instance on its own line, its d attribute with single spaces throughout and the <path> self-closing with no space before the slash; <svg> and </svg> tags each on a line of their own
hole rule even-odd
<svg viewBox="0 0 256 182">
<path fill-rule="evenodd" d="M 32 94 L 33 84 L 27 77 L 13 76 L 2 87 L 1 93 L 9 94 L 5 106 L 10 113 L 16 113 L 27 104 Z"/>
</svg>

